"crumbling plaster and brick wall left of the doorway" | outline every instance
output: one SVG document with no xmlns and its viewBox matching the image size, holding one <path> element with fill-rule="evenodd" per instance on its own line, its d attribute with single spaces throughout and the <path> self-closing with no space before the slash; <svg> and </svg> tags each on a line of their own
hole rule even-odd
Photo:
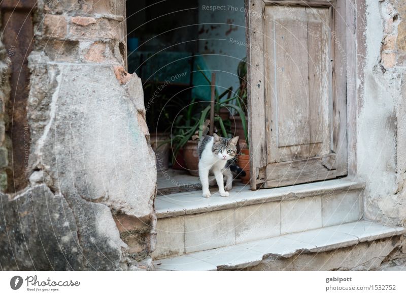
<svg viewBox="0 0 406 296">
<path fill-rule="evenodd" d="M 38 1 L 29 179 L 1 196 L 3 270 L 152 268 L 155 155 L 141 80 L 123 68 L 123 4 Z"/>
</svg>

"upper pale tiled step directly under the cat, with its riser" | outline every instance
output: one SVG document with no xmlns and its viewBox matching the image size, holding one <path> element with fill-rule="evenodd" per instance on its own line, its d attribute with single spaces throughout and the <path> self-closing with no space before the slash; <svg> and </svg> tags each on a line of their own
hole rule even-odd
<svg viewBox="0 0 406 296">
<path fill-rule="evenodd" d="M 212 189 L 155 199 L 158 218 L 153 259 L 241 244 L 362 218 L 362 181 L 329 180 L 251 191 L 235 186 L 229 197 Z"/>
</svg>

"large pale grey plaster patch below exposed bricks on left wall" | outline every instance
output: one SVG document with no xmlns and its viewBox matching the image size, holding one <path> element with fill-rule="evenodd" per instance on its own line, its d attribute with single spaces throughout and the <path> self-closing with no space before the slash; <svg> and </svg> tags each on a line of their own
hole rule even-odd
<svg viewBox="0 0 406 296">
<path fill-rule="evenodd" d="M 33 69 L 41 67 L 37 61 L 31 54 L 29 65 Z M 50 136 L 37 147 L 42 164 L 50 168 L 49 175 L 53 180 L 61 180 L 67 176 L 57 167 L 72 170 L 73 179 L 68 179 L 76 186 L 72 188 L 66 181 L 61 185 L 62 192 L 75 189 L 75 194 L 105 203 L 118 213 L 143 220 L 152 217 L 155 155 L 137 119 L 136 108 L 144 103 L 141 80 L 130 75 L 131 81 L 124 88 L 110 65 L 59 63 L 47 69 L 45 75 L 39 75 L 43 78 L 32 78 L 36 83 L 32 84 L 30 101 L 38 95 L 40 103 L 29 112 L 29 123 L 32 134 L 42 135 L 43 126 L 31 116 L 43 112 L 45 118 L 58 118 L 50 127 L 50 135 L 58 133 L 58 143 Z M 55 88 L 49 89 L 42 99 L 41 90 L 51 84 L 49 81 Z M 58 108 L 43 109 L 41 100 L 46 100 L 45 105 L 57 104 Z M 66 122 L 70 122 L 69 127 Z M 75 131 L 77 137 L 72 136 Z M 75 157 L 65 149 L 66 145 L 76 151 Z"/>
</svg>

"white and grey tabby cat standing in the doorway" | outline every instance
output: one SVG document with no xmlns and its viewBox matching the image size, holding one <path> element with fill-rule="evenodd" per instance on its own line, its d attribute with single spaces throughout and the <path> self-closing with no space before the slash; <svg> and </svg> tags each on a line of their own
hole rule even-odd
<svg viewBox="0 0 406 296">
<path fill-rule="evenodd" d="M 217 134 L 213 136 L 204 136 L 199 140 L 197 152 L 199 155 L 199 177 L 202 186 L 202 195 L 210 197 L 209 191 L 209 172 L 213 172 L 219 187 L 221 196 L 229 196 L 225 190 L 231 190 L 233 174 L 231 170 L 241 175 L 245 172 L 234 165 L 234 157 L 237 154 L 237 143 L 239 137 L 231 139 L 220 137 Z M 223 175 L 226 177 L 224 187 Z"/>
</svg>

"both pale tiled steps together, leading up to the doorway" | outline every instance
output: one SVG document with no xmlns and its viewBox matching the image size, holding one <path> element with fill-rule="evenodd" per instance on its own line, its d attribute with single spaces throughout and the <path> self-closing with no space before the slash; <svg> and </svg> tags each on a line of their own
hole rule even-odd
<svg viewBox="0 0 406 296">
<path fill-rule="evenodd" d="M 214 188 L 210 198 L 200 191 L 158 196 L 155 266 L 241 269 L 271 253 L 323 252 L 403 231 L 360 221 L 363 188 L 362 181 L 336 179 L 256 191 L 237 185 L 229 197 Z M 369 236 L 361 233 L 366 226 Z"/>
</svg>

